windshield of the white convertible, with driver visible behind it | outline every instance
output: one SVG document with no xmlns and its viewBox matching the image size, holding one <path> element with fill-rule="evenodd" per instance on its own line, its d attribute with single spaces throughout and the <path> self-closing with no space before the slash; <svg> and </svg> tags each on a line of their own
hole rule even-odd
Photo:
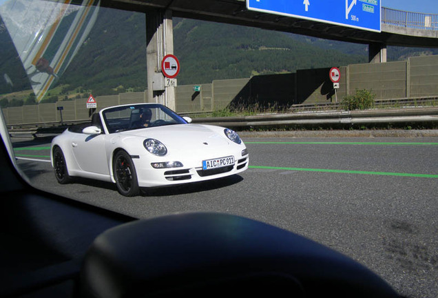
<svg viewBox="0 0 438 298">
<path fill-rule="evenodd" d="M 106 108 L 102 115 L 109 133 L 187 123 L 176 112 L 157 104 Z"/>
</svg>

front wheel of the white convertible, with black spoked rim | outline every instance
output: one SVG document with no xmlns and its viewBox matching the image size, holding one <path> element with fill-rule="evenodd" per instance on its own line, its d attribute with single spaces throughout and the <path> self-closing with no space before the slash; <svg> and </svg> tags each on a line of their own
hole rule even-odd
<svg viewBox="0 0 438 298">
<path fill-rule="evenodd" d="M 137 172 L 132 158 L 126 151 L 118 151 L 112 163 L 114 180 L 117 190 L 125 197 L 134 197 L 140 192 L 138 187 Z"/>
</svg>

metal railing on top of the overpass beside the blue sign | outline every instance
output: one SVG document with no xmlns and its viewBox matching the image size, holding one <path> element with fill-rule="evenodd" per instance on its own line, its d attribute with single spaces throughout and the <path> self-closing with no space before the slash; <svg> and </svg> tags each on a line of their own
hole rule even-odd
<svg viewBox="0 0 438 298">
<path fill-rule="evenodd" d="M 382 23 L 406 28 L 438 30 L 438 14 L 407 12 L 382 7 Z"/>
</svg>

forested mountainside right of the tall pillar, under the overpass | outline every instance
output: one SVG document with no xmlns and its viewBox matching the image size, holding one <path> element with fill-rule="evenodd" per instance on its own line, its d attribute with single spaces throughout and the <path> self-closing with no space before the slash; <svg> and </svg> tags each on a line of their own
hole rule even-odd
<svg viewBox="0 0 438 298">
<path fill-rule="evenodd" d="M 366 61 L 364 55 L 317 48 L 282 32 L 189 19 L 176 23 L 174 44 L 181 61 L 181 83 Z"/>
</svg>

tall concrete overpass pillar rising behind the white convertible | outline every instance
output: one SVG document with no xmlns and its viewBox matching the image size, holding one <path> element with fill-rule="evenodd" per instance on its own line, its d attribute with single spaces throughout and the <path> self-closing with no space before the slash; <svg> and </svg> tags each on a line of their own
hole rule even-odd
<svg viewBox="0 0 438 298">
<path fill-rule="evenodd" d="M 161 103 L 175 110 L 175 87 L 164 87 L 161 61 L 174 54 L 174 34 L 171 10 L 146 13 L 147 101 Z"/>
</svg>

